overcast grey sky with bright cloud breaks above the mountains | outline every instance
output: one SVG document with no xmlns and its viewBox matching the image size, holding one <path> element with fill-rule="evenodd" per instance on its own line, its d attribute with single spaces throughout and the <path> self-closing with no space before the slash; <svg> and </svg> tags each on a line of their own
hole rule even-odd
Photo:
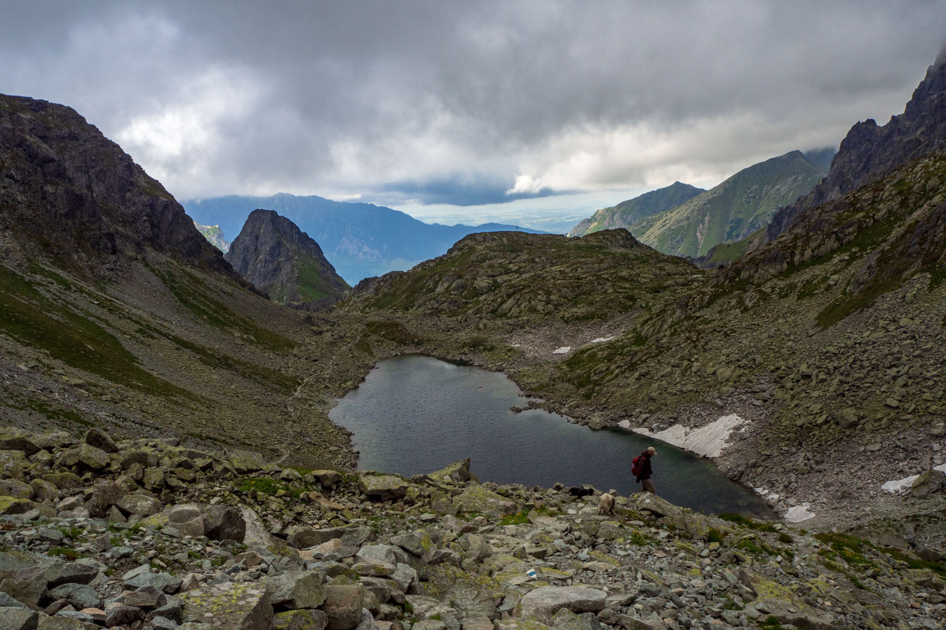
<svg viewBox="0 0 946 630">
<path fill-rule="evenodd" d="M 0 9 L 0 92 L 74 107 L 178 198 L 419 215 L 601 207 L 836 146 L 901 112 L 946 41 L 944 1 Z"/>
</svg>

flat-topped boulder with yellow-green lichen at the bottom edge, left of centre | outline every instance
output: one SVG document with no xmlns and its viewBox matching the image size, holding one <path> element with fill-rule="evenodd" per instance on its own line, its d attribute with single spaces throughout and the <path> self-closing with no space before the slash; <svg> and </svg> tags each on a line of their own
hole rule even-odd
<svg viewBox="0 0 946 630">
<path fill-rule="evenodd" d="M 269 628 L 272 604 L 266 587 L 251 582 L 224 582 L 181 593 L 184 621 L 212 623 L 215 630 Z"/>
</svg>

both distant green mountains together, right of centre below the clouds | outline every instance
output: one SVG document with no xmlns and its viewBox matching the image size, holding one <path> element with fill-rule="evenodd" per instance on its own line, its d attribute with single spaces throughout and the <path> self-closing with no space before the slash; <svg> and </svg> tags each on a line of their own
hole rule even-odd
<svg viewBox="0 0 946 630">
<path fill-rule="evenodd" d="M 817 151 L 809 160 L 791 151 L 753 164 L 708 191 L 676 182 L 598 211 L 569 236 L 626 228 L 662 253 L 702 256 L 760 230 L 782 206 L 812 190 L 828 173 L 829 153 Z"/>
</svg>

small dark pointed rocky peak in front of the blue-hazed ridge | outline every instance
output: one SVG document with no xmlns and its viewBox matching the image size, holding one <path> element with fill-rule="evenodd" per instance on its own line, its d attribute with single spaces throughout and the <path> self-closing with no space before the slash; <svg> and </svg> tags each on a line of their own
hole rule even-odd
<svg viewBox="0 0 946 630">
<path fill-rule="evenodd" d="M 250 213 L 225 258 L 277 304 L 308 302 L 349 288 L 319 244 L 272 210 Z"/>
</svg>

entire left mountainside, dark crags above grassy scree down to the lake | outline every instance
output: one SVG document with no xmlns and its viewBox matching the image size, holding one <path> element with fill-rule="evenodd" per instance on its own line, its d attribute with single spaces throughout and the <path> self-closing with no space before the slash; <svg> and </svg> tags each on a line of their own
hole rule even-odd
<svg viewBox="0 0 946 630">
<path fill-rule="evenodd" d="M 251 291 L 76 111 L 0 96 L 0 252 L 5 425 L 348 461 L 324 396 L 363 352 L 318 346 L 331 335 Z M 346 363 L 314 378 L 307 344 Z"/>
</svg>

